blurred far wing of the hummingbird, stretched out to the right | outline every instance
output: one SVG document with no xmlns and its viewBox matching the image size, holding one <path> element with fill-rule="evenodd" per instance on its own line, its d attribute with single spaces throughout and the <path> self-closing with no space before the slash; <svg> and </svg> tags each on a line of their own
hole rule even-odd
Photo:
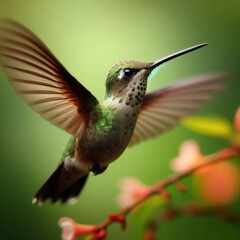
<svg viewBox="0 0 240 240">
<path fill-rule="evenodd" d="M 202 75 L 146 94 L 129 146 L 162 134 L 176 125 L 179 118 L 200 108 L 223 88 L 226 76 Z"/>
</svg>

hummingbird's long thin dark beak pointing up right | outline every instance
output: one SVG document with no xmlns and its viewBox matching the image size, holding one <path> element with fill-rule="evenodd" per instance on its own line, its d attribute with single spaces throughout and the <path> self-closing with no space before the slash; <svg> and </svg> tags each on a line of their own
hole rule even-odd
<svg viewBox="0 0 240 240">
<path fill-rule="evenodd" d="M 171 55 L 168 55 L 167 57 L 161 58 L 161 59 L 153 62 L 148 68 L 154 69 L 154 68 L 158 67 L 159 65 L 161 65 L 161 64 L 163 64 L 163 63 L 165 63 L 165 62 L 167 62 L 169 60 L 172 60 L 172 59 L 174 59 L 176 57 L 179 57 L 179 56 L 184 55 L 186 53 L 189 53 L 189 52 L 192 52 L 192 51 L 197 50 L 199 48 L 202 48 L 202 47 L 204 47 L 206 45 L 208 45 L 208 43 L 202 43 L 202 44 L 199 44 L 199 45 L 196 45 L 196 46 L 193 46 L 193 47 L 181 50 L 179 52 L 173 53 Z"/>
</svg>

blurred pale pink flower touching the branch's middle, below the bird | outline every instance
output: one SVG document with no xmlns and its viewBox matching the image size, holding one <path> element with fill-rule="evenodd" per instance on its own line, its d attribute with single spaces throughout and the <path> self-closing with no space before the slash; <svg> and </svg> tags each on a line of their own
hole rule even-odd
<svg viewBox="0 0 240 240">
<path fill-rule="evenodd" d="M 137 199 L 146 196 L 151 187 L 145 185 L 137 178 L 127 177 L 120 182 L 120 194 L 117 197 L 118 205 L 125 208 L 133 204 Z"/>
</svg>

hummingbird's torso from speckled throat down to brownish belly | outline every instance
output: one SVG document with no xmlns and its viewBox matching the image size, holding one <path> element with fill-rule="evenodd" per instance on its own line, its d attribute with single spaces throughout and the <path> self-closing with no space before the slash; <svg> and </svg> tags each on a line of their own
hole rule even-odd
<svg viewBox="0 0 240 240">
<path fill-rule="evenodd" d="M 97 160 L 105 166 L 123 153 L 134 132 L 146 84 L 145 78 L 130 83 L 123 97 L 112 97 L 101 106 L 104 114 L 88 128 L 79 142 L 82 160 Z"/>
</svg>

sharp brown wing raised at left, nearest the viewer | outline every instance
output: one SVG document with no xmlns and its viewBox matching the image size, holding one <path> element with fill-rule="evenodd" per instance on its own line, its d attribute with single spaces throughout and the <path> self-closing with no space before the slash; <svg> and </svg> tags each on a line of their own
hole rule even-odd
<svg viewBox="0 0 240 240">
<path fill-rule="evenodd" d="M 0 61 L 16 92 L 52 124 L 79 136 L 97 99 L 31 31 L 11 20 L 0 25 Z"/>
</svg>

